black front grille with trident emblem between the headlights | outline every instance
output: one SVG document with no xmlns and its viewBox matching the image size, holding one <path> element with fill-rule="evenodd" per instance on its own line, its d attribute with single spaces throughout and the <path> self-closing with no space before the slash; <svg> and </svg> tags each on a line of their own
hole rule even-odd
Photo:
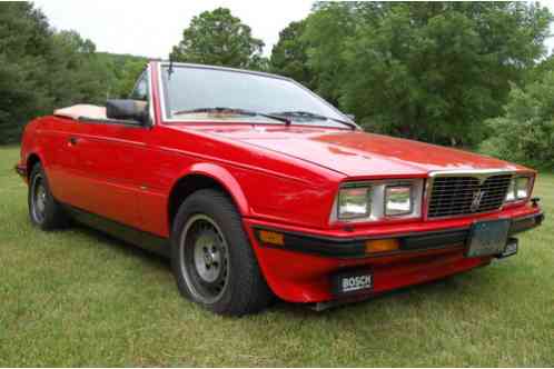
<svg viewBox="0 0 554 369">
<path fill-rule="evenodd" d="M 511 173 L 485 178 L 472 174 L 435 177 L 432 182 L 427 218 L 498 210 L 506 198 L 511 180 Z"/>
</svg>

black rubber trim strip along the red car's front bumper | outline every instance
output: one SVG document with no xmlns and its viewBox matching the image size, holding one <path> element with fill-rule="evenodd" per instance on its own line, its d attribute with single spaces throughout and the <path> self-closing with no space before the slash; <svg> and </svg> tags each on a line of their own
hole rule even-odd
<svg viewBox="0 0 554 369">
<path fill-rule="evenodd" d="M 537 213 L 512 220 L 510 235 L 523 232 L 541 225 L 544 220 L 544 215 Z M 441 231 L 413 232 L 388 235 L 379 237 L 363 237 L 363 238 L 338 238 L 338 237 L 321 237 L 301 232 L 284 231 L 277 228 L 254 226 L 254 233 L 259 245 L 263 247 L 278 248 L 290 251 L 313 253 L 321 257 L 333 258 L 367 258 L 367 257 L 384 257 L 400 255 L 406 251 L 424 251 L 432 249 L 452 248 L 466 245 L 469 235 L 469 227 L 446 229 Z M 269 230 L 284 235 L 284 246 L 273 246 L 264 243 L 259 238 L 260 230 Z M 398 239 L 399 250 L 366 255 L 365 242 L 372 239 Z"/>
</svg>

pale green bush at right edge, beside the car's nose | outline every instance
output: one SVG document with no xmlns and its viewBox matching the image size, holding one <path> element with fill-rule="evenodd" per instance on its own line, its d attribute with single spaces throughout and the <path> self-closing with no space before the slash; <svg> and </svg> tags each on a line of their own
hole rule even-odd
<svg viewBox="0 0 554 369">
<path fill-rule="evenodd" d="M 505 113 L 486 123 L 494 134 L 481 150 L 530 166 L 554 167 L 554 71 L 510 93 Z"/>
</svg>

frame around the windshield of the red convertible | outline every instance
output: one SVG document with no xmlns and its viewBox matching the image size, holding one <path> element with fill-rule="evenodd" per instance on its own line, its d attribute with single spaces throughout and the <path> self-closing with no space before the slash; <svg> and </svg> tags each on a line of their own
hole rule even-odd
<svg viewBox="0 0 554 369">
<path fill-rule="evenodd" d="M 294 79 L 284 77 L 284 76 L 278 76 L 278 74 L 271 74 L 271 73 L 266 73 L 266 72 L 260 72 L 260 71 L 255 71 L 255 70 L 247 70 L 247 69 L 237 69 L 237 68 L 229 68 L 229 67 L 220 67 L 220 66 L 207 66 L 207 64 L 196 64 L 196 63 L 184 63 L 184 62 L 168 62 L 168 61 L 162 61 L 158 62 L 158 86 L 159 86 L 159 103 L 160 103 L 160 112 L 161 112 L 161 120 L 165 123 L 208 123 L 208 122 L 216 122 L 216 123 L 228 123 L 228 124 L 236 124 L 236 123 L 248 123 L 248 124 L 281 124 L 280 122 L 271 121 L 270 119 L 267 120 L 259 120 L 258 118 L 251 119 L 253 117 L 243 117 L 237 119 L 220 119 L 216 117 L 209 117 L 209 118 L 198 118 L 198 117 L 190 117 L 187 118 L 186 116 L 181 116 L 179 118 L 170 118 L 168 117 L 167 113 L 167 101 L 166 101 L 166 96 L 168 93 L 168 88 L 165 83 L 164 80 L 164 69 L 169 68 L 172 64 L 172 68 L 189 68 L 189 69 L 210 69 L 210 70 L 222 70 L 222 71 L 228 71 L 228 72 L 235 72 L 235 73 L 245 73 L 245 74 L 254 74 L 254 76 L 260 76 L 264 78 L 274 78 L 274 79 L 280 79 L 290 83 L 294 83 L 296 87 L 299 87 L 303 89 L 305 92 L 311 94 L 315 97 L 317 100 L 319 100 L 321 103 L 326 104 L 329 109 L 335 111 L 342 119 L 348 123 L 352 123 L 353 126 L 356 126 L 356 129 L 360 129 L 356 122 L 354 122 L 347 114 L 335 108 L 333 104 L 327 102 L 325 99 L 319 97 L 317 93 L 311 91 L 310 89 L 306 88 L 301 83 L 295 81 Z M 342 124 L 337 123 L 337 126 L 329 126 L 329 124 L 318 124 L 316 121 L 311 121 L 310 123 L 305 123 L 301 121 L 295 121 L 291 120 L 290 122 L 291 126 L 303 126 L 303 127 L 317 127 L 317 128 L 330 128 L 330 129 L 347 129 L 352 130 L 353 127 L 349 127 L 348 124 Z"/>
</svg>

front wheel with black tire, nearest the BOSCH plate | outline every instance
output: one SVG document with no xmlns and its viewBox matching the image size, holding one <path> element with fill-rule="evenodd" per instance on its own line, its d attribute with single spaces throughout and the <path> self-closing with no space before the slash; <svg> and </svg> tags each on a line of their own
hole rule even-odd
<svg viewBox="0 0 554 369">
<path fill-rule="evenodd" d="M 202 252 L 209 256 L 201 257 Z M 258 312 L 273 300 L 240 215 L 217 190 L 199 190 L 179 207 L 171 232 L 171 267 L 181 295 L 219 315 Z"/>
</svg>

